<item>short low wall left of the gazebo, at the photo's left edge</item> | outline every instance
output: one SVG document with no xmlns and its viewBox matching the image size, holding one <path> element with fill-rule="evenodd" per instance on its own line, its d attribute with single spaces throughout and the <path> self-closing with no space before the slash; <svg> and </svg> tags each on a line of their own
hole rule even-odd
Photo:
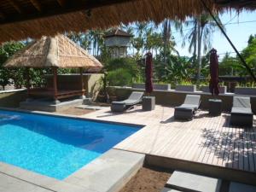
<svg viewBox="0 0 256 192">
<path fill-rule="evenodd" d="M 0 91 L 0 107 L 18 108 L 27 98 L 26 89 Z"/>
</svg>

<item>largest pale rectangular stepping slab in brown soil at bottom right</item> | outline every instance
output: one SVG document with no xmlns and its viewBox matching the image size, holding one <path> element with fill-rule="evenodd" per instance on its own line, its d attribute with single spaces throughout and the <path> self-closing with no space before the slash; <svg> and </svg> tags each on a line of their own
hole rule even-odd
<svg viewBox="0 0 256 192">
<path fill-rule="evenodd" d="M 221 179 L 175 171 L 166 187 L 184 192 L 219 192 Z"/>
</svg>

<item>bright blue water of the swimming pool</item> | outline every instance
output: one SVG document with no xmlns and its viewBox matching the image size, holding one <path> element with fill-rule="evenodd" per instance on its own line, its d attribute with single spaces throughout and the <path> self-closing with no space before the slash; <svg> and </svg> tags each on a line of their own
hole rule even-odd
<svg viewBox="0 0 256 192">
<path fill-rule="evenodd" d="M 63 179 L 137 128 L 0 110 L 0 161 Z"/>
</svg>

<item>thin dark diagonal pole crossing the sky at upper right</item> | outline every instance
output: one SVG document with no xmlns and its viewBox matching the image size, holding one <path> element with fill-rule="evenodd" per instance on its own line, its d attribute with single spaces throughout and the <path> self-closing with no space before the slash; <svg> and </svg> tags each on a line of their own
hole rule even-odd
<svg viewBox="0 0 256 192">
<path fill-rule="evenodd" d="M 207 7 L 207 4 L 204 2 L 204 0 L 201 0 L 201 3 L 203 4 L 203 6 L 207 9 L 207 11 L 209 12 L 209 14 L 212 16 L 212 19 L 216 22 L 218 28 L 220 29 L 220 31 L 224 34 L 225 38 L 229 41 L 230 45 L 232 46 L 232 48 L 236 51 L 236 55 L 238 55 L 238 57 L 241 60 L 241 64 L 247 68 L 247 72 L 250 73 L 250 75 L 252 76 L 253 80 L 256 82 L 256 77 L 253 74 L 253 71 L 250 67 L 248 67 L 247 62 L 243 59 L 243 57 L 241 56 L 241 54 L 239 53 L 239 51 L 236 49 L 235 45 L 231 42 L 229 36 L 227 35 L 227 33 L 224 31 L 224 29 L 222 28 L 222 26 L 218 23 L 218 20 L 216 20 L 216 18 L 214 17 L 214 15 L 212 14 L 212 11 Z"/>
</svg>

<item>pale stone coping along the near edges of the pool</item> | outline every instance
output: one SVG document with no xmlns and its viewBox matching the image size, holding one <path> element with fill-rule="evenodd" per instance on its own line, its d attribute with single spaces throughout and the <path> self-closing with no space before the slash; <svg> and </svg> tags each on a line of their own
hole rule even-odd
<svg viewBox="0 0 256 192">
<path fill-rule="evenodd" d="M 143 166 L 144 157 L 144 154 L 110 149 L 63 180 L 57 180 L 3 162 L 0 162 L 0 173 L 49 191 L 119 191 Z M 8 189 L 5 192 L 7 191 Z"/>
</svg>

